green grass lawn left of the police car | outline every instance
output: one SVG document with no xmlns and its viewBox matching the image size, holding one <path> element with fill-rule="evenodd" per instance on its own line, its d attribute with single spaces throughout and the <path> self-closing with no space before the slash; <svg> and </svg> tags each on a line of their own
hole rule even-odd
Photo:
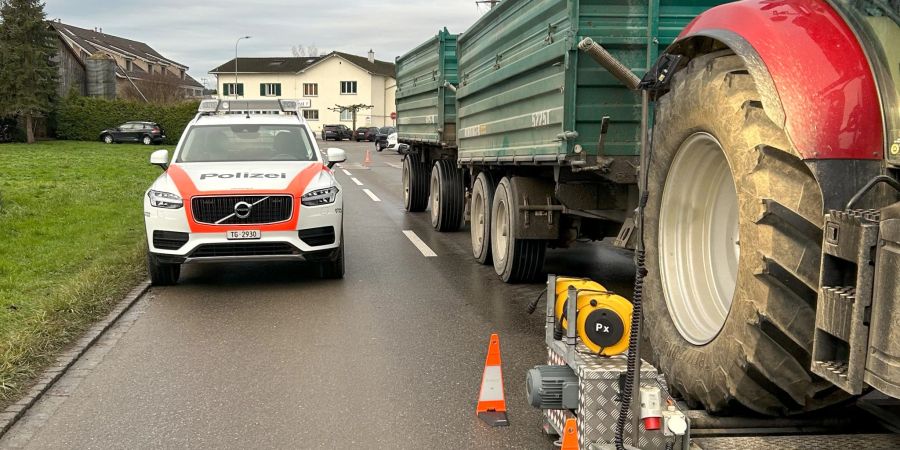
<svg viewBox="0 0 900 450">
<path fill-rule="evenodd" d="M 155 148 L 0 145 L 0 410 L 146 277 Z"/>
</svg>

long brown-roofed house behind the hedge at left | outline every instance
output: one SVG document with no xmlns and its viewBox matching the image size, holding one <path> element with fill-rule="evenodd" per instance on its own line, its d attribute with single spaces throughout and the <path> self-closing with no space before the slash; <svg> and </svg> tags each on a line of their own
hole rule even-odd
<svg viewBox="0 0 900 450">
<path fill-rule="evenodd" d="M 50 25 L 59 37 L 57 64 L 62 95 L 73 88 L 83 95 L 99 95 L 91 90 L 103 89 L 97 86 L 104 78 L 114 85 L 103 94 L 107 97 L 146 96 L 144 91 L 152 89 L 154 83 L 172 86 L 187 98 L 203 95 L 203 85 L 187 74 L 188 66 L 166 58 L 146 43 L 58 20 Z M 109 73 L 98 74 L 105 71 Z"/>
</svg>

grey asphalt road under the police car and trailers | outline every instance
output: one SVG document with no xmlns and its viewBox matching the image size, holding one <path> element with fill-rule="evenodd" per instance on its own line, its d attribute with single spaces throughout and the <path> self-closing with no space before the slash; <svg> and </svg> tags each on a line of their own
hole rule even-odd
<svg viewBox="0 0 900 450">
<path fill-rule="evenodd" d="M 336 170 L 345 279 L 297 264 L 186 266 L 0 448 L 553 448 L 523 387 L 546 358 L 541 314 L 525 311 L 543 284 L 502 283 L 472 259 L 468 229 L 438 233 L 427 212 L 405 213 L 396 153 L 373 150 L 364 165 L 371 144 L 328 144 L 349 157 Z M 545 269 L 626 293 L 633 273 L 630 255 L 606 244 L 551 250 Z M 506 428 L 475 417 L 491 333 Z"/>
</svg>

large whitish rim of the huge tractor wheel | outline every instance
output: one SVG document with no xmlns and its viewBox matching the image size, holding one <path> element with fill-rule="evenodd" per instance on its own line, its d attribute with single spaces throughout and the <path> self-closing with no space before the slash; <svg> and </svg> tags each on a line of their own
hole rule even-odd
<svg viewBox="0 0 900 450">
<path fill-rule="evenodd" d="M 663 188 L 660 272 L 666 305 L 682 337 L 712 341 L 737 285 L 738 199 L 721 144 L 707 133 L 685 139 Z"/>
</svg>

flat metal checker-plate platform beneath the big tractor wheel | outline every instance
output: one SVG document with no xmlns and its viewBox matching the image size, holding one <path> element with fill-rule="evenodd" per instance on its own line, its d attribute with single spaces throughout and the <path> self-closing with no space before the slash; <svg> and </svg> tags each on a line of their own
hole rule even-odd
<svg viewBox="0 0 900 450">
<path fill-rule="evenodd" d="M 702 450 L 894 450 L 897 434 L 832 434 L 817 436 L 766 436 L 694 439 L 692 449 Z"/>
</svg>

